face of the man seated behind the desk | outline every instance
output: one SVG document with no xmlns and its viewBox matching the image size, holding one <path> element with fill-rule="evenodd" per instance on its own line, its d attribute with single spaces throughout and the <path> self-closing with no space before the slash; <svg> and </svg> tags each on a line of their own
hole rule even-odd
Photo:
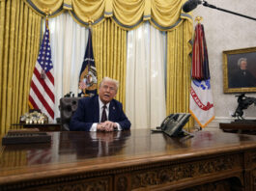
<svg viewBox="0 0 256 191">
<path fill-rule="evenodd" d="M 103 103 L 110 102 L 114 96 L 117 94 L 117 87 L 114 82 L 104 81 L 101 83 L 99 89 L 100 100 Z"/>
</svg>

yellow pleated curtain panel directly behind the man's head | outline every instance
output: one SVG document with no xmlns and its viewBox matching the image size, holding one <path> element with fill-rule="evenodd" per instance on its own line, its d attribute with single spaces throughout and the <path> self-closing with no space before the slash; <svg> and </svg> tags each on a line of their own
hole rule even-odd
<svg viewBox="0 0 256 191">
<path fill-rule="evenodd" d="M 104 76 L 116 79 L 120 88 L 116 98 L 126 107 L 127 31 L 111 19 L 93 27 L 93 47 L 99 82 Z"/>
</svg>

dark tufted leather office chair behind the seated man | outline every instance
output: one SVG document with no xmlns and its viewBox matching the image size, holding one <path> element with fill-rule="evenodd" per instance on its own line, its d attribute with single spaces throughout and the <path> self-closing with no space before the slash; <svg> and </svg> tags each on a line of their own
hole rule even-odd
<svg viewBox="0 0 256 191">
<path fill-rule="evenodd" d="M 78 100 L 82 97 L 62 97 L 60 99 L 60 114 L 62 130 L 70 130 L 71 116 L 78 106 Z"/>
</svg>

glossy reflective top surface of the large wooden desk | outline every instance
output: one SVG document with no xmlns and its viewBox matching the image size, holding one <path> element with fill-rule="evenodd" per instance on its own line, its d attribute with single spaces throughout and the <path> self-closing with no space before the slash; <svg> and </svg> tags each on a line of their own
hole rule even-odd
<svg viewBox="0 0 256 191">
<path fill-rule="evenodd" d="M 49 144 L 1 146 L 0 184 L 12 179 L 57 176 L 215 153 L 256 149 L 256 136 L 199 131 L 171 138 L 150 130 L 119 132 L 49 132 Z M 21 176 L 22 175 L 22 176 Z"/>
</svg>

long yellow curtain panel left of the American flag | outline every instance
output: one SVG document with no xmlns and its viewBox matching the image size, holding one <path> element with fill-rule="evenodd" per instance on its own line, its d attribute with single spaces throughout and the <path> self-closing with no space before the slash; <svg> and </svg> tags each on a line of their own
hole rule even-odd
<svg viewBox="0 0 256 191">
<path fill-rule="evenodd" d="M 42 18 L 19 0 L 0 1 L 0 10 L 0 134 L 3 134 L 28 111 Z"/>
</svg>

